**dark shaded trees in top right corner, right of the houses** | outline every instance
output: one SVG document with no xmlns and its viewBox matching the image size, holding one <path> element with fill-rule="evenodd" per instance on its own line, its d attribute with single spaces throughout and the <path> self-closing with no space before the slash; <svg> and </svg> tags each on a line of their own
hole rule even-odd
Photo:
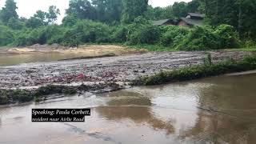
<svg viewBox="0 0 256 144">
<path fill-rule="evenodd" d="M 254 0 L 207 0 L 206 16 L 212 26 L 234 26 L 241 38 L 254 38 L 256 2 Z"/>
</svg>

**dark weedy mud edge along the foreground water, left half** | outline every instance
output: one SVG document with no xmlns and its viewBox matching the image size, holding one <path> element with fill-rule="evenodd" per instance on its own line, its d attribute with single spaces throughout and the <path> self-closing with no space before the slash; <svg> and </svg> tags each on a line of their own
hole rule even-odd
<svg viewBox="0 0 256 144">
<path fill-rule="evenodd" d="M 61 86 L 47 85 L 34 89 L 0 89 L 0 105 L 15 104 L 21 102 L 41 102 L 49 99 L 61 98 L 66 95 L 101 94 L 121 90 L 123 87 L 116 83 L 98 83 L 93 85 Z M 54 95 L 58 94 L 58 95 Z M 62 95 L 60 95 L 62 94 Z"/>
</svg>

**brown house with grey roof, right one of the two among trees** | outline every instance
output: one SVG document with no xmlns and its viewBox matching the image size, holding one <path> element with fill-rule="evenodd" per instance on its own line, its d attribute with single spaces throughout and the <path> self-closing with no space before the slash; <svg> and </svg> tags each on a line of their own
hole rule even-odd
<svg viewBox="0 0 256 144">
<path fill-rule="evenodd" d="M 204 14 L 188 13 L 186 18 L 180 18 L 178 20 L 178 26 L 202 26 Z"/>
</svg>

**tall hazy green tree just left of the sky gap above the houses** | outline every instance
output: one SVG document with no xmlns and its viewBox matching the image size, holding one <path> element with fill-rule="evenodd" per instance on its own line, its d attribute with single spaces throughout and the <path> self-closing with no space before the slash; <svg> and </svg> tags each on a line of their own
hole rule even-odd
<svg viewBox="0 0 256 144">
<path fill-rule="evenodd" d="M 148 7 L 148 0 L 123 0 L 122 22 L 131 23 L 134 18 L 143 15 Z"/>
</svg>

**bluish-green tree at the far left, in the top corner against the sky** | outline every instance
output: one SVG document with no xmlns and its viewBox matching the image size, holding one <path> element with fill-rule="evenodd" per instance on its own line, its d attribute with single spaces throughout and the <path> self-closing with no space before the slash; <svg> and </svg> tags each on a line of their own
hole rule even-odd
<svg viewBox="0 0 256 144">
<path fill-rule="evenodd" d="M 16 2 L 14 0 L 6 0 L 6 5 L 2 8 L 1 20 L 3 23 L 7 24 L 10 18 L 18 18 L 16 10 Z"/>
</svg>

